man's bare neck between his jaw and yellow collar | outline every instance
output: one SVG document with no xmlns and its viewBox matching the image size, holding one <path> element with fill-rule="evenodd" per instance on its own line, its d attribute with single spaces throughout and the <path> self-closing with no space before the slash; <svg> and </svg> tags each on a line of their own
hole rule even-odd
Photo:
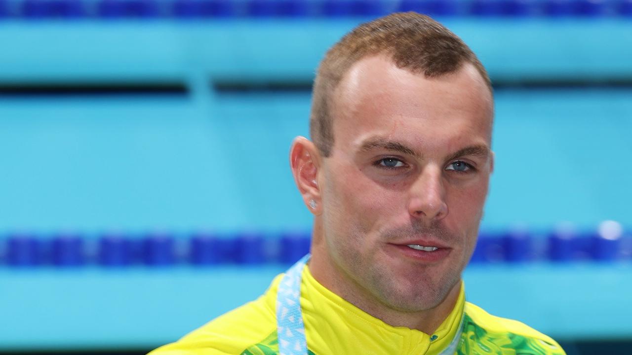
<svg viewBox="0 0 632 355">
<path fill-rule="evenodd" d="M 434 308 L 423 311 L 401 311 L 389 307 L 337 267 L 327 253 L 324 238 L 317 224 L 313 232 L 312 258 L 309 262 L 313 278 L 369 315 L 393 327 L 406 327 L 432 334 L 454 309 L 461 292 L 461 282 L 456 282 L 446 298 Z"/>
</svg>

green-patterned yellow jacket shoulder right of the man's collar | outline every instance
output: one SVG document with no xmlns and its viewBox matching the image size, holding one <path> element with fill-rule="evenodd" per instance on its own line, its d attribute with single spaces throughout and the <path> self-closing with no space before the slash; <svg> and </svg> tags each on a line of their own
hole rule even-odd
<svg viewBox="0 0 632 355">
<path fill-rule="evenodd" d="M 472 346 L 511 348 L 521 354 L 564 355 L 555 340 L 525 323 L 490 315 L 482 308 L 465 303 L 463 338 Z"/>
</svg>

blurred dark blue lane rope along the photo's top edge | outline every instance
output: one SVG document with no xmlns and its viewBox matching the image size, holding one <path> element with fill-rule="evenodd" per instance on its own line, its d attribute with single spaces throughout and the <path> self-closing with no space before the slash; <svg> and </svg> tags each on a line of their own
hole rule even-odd
<svg viewBox="0 0 632 355">
<path fill-rule="evenodd" d="M 433 16 L 632 17 L 632 0 L 0 0 L 0 19 L 336 18 L 393 11 Z"/>
</svg>

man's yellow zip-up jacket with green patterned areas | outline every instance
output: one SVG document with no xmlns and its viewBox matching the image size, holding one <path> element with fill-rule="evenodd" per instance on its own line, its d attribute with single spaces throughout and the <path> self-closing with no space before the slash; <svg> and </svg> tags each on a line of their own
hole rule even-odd
<svg viewBox="0 0 632 355">
<path fill-rule="evenodd" d="M 465 301 L 461 287 L 454 310 L 432 335 L 392 327 L 319 284 L 303 268 L 301 309 L 310 355 L 437 355 L 463 332 L 456 354 L 564 355 L 557 342 L 525 324 L 489 315 Z M 278 354 L 276 294 L 283 274 L 257 300 L 226 313 L 149 355 Z M 463 322 L 463 323 L 461 323 Z M 432 339 L 432 340 L 431 340 Z"/>
</svg>

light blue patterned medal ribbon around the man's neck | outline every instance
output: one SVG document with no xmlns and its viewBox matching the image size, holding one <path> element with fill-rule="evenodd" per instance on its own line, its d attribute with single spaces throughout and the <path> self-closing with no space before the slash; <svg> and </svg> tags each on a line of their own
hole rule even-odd
<svg viewBox="0 0 632 355">
<path fill-rule="evenodd" d="M 279 355 L 306 355 L 307 340 L 305 339 L 305 325 L 301 312 L 301 276 L 303 268 L 310 260 L 305 255 L 296 262 L 283 276 L 277 290 L 277 337 L 279 339 Z M 463 318 L 456 336 L 440 355 L 453 355 L 459 346 L 463 332 Z"/>
</svg>

